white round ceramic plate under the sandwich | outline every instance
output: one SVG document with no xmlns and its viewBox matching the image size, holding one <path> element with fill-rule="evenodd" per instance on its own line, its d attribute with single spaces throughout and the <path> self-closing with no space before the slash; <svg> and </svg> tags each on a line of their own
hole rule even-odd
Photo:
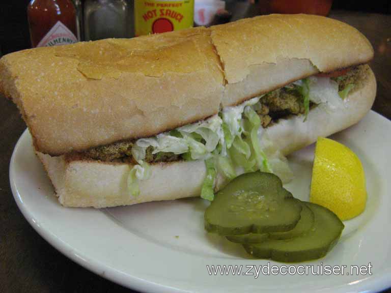
<svg viewBox="0 0 391 293">
<path fill-rule="evenodd" d="M 203 228 L 207 204 L 199 198 L 103 210 L 63 208 L 34 155 L 28 131 L 15 147 L 10 181 L 20 210 L 44 239 L 83 267 L 136 290 L 377 291 L 391 286 L 390 128 L 390 121 L 371 111 L 359 124 L 333 135 L 364 164 L 367 208 L 345 222 L 341 240 L 324 258 L 296 264 L 345 265 L 350 270 L 350 265 L 370 262 L 372 275 L 210 276 L 207 265 L 243 265 L 243 273 L 245 266 L 267 265 L 267 260 L 250 259 L 240 247 L 209 236 Z M 313 146 L 290 156 L 296 177 L 286 187 L 300 199 L 309 198 L 313 156 Z M 271 261 L 272 265 L 284 264 Z"/>
</svg>

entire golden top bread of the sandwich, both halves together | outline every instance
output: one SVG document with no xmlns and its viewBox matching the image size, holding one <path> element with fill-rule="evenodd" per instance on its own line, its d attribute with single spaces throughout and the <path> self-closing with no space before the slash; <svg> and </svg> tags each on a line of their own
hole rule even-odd
<svg viewBox="0 0 391 293">
<path fill-rule="evenodd" d="M 340 21 L 269 15 L 11 53 L 0 60 L 0 91 L 18 105 L 36 149 L 61 155 L 155 135 L 372 56 L 368 40 Z"/>
</svg>

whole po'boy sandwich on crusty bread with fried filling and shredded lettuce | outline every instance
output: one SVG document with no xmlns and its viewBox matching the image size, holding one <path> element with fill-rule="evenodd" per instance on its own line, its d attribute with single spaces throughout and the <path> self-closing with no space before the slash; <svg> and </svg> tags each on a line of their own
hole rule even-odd
<svg viewBox="0 0 391 293">
<path fill-rule="evenodd" d="M 312 15 L 269 15 L 130 40 L 8 54 L 0 90 L 66 207 L 213 198 L 243 172 L 358 122 L 369 41 Z"/>
</svg>

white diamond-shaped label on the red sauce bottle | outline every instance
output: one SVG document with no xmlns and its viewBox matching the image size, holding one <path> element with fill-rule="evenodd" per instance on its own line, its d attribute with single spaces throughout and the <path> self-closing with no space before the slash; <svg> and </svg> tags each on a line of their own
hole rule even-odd
<svg viewBox="0 0 391 293">
<path fill-rule="evenodd" d="M 64 23 L 58 21 L 50 28 L 50 31 L 42 38 L 37 47 L 68 45 L 76 42 L 76 36 L 64 25 Z"/>
</svg>

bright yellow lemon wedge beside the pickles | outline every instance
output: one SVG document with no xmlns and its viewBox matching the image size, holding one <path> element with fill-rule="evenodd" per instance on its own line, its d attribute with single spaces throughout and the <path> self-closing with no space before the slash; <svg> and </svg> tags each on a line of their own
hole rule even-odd
<svg viewBox="0 0 391 293">
<path fill-rule="evenodd" d="M 364 211 L 367 202 L 364 168 L 357 155 L 345 145 L 318 138 L 310 201 L 328 208 L 341 220 Z"/>
</svg>

